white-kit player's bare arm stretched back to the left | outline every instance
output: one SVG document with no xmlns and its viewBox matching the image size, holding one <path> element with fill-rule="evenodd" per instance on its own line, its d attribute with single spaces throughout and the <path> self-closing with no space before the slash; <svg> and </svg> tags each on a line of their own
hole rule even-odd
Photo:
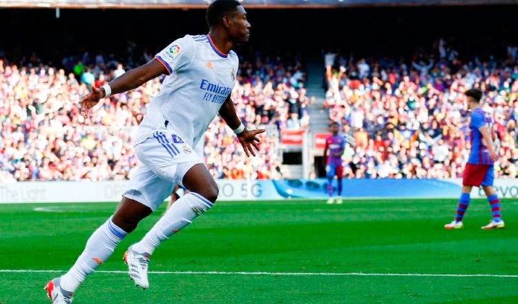
<svg viewBox="0 0 518 304">
<path fill-rule="evenodd" d="M 110 82 L 111 93 L 113 95 L 133 90 L 162 74 L 169 74 L 169 71 L 160 61 L 153 59 L 147 64 L 128 70 L 128 72 L 113 79 L 113 81 Z M 99 99 L 106 97 L 105 94 L 104 89 L 92 86 L 92 91 L 84 95 L 79 102 L 79 104 L 81 104 L 81 113 L 86 115 L 90 108 L 99 102 Z"/>
</svg>

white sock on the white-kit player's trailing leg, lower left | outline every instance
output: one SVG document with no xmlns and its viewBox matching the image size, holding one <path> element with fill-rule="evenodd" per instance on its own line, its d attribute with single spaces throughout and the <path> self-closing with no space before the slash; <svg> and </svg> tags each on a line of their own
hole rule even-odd
<svg viewBox="0 0 518 304">
<path fill-rule="evenodd" d="M 106 220 L 106 222 L 97 228 L 90 238 L 88 238 L 86 247 L 72 268 L 61 276 L 61 288 L 68 292 L 75 292 L 75 289 L 79 287 L 86 276 L 94 272 L 97 267 L 102 265 L 102 263 L 113 254 L 115 246 L 117 246 L 126 235 L 126 231 L 113 224 L 111 218 Z"/>
</svg>

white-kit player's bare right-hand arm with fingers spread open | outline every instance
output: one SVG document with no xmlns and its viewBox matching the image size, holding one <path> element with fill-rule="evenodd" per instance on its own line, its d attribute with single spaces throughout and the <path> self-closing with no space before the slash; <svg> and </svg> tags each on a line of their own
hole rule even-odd
<svg viewBox="0 0 518 304">
<path fill-rule="evenodd" d="M 231 129 L 237 129 L 238 126 L 241 125 L 241 121 L 239 120 L 238 114 L 236 113 L 236 108 L 234 107 L 234 104 L 230 96 L 227 97 L 227 99 L 221 106 L 219 113 Z M 263 133 L 265 131 L 266 129 L 247 130 L 245 128 L 244 131 L 242 131 L 242 133 L 238 134 L 238 140 L 243 146 L 244 153 L 247 156 L 256 156 L 256 152 L 253 150 L 253 148 L 259 150 L 260 138 L 258 134 Z"/>
</svg>

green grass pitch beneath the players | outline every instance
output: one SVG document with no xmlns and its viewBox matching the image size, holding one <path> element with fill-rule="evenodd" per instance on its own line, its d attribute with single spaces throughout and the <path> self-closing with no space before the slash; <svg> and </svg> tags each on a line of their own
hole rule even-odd
<svg viewBox="0 0 518 304">
<path fill-rule="evenodd" d="M 50 303 L 115 202 L 0 205 L 0 304 Z M 446 230 L 457 200 L 216 202 L 157 248 L 150 288 L 128 280 L 124 250 L 146 218 L 75 292 L 90 303 L 518 303 L 518 199 L 506 229 L 483 231 L 486 200 Z"/>
</svg>

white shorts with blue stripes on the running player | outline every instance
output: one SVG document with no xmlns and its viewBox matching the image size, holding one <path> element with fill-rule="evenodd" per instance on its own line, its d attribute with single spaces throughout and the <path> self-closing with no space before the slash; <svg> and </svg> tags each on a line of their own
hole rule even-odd
<svg viewBox="0 0 518 304">
<path fill-rule="evenodd" d="M 185 173 L 203 158 L 186 144 L 173 129 L 160 129 L 135 145 L 139 167 L 130 178 L 122 196 L 155 211 L 171 195 L 175 184 L 183 187 Z"/>
</svg>

